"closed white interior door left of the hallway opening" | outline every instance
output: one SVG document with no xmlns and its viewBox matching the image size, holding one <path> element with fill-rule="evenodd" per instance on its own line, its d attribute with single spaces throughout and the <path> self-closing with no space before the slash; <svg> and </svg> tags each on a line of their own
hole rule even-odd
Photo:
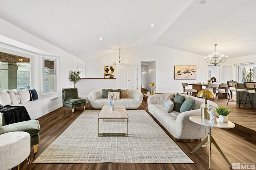
<svg viewBox="0 0 256 170">
<path fill-rule="evenodd" d="M 138 66 L 128 66 L 128 88 L 138 90 Z"/>
</svg>

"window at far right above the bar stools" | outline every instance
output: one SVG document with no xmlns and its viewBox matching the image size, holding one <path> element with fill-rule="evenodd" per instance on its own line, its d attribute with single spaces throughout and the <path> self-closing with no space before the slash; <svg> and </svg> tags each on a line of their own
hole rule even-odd
<svg viewBox="0 0 256 170">
<path fill-rule="evenodd" d="M 239 82 L 255 82 L 256 81 L 256 63 L 238 65 L 238 81 Z"/>
</svg>

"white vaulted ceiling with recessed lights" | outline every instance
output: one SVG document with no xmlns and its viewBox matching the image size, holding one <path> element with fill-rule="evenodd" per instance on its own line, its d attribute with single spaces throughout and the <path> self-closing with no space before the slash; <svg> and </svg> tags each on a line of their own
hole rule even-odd
<svg viewBox="0 0 256 170">
<path fill-rule="evenodd" d="M 149 44 L 256 54 L 255 16 L 256 0 L 0 0 L 0 18 L 83 60 Z"/>
</svg>

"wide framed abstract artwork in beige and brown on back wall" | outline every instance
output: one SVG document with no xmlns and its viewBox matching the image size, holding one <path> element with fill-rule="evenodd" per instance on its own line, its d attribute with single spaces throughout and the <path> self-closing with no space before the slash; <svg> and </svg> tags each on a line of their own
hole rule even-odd
<svg viewBox="0 0 256 170">
<path fill-rule="evenodd" d="M 174 66 L 174 79 L 195 80 L 196 66 Z"/>
</svg>

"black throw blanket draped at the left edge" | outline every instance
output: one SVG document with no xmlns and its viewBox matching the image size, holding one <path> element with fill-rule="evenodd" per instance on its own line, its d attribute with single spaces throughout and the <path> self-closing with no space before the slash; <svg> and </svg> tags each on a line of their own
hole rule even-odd
<svg viewBox="0 0 256 170">
<path fill-rule="evenodd" d="M 24 106 L 0 105 L 0 112 L 4 114 L 6 125 L 31 120 L 30 116 L 28 115 L 28 111 Z"/>
</svg>

